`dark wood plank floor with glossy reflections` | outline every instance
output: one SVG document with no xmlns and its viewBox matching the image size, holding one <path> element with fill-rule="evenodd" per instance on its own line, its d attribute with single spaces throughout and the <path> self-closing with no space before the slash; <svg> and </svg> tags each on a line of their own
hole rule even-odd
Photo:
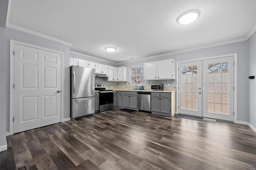
<svg viewBox="0 0 256 170">
<path fill-rule="evenodd" d="M 0 169 L 256 168 L 247 125 L 193 121 L 119 109 L 7 136 Z"/>
</svg>

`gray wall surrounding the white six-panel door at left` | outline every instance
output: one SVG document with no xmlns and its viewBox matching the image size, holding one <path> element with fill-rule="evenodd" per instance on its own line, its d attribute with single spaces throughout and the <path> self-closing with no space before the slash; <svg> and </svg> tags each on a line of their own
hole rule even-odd
<svg viewBox="0 0 256 170">
<path fill-rule="evenodd" d="M 6 28 L 6 77 L 7 77 L 7 97 L 6 97 L 6 132 L 9 132 L 9 100 L 10 100 L 10 40 L 29 43 L 40 47 L 64 52 L 64 119 L 70 117 L 70 76 L 69 57 L 70 47 L 61 43 L 53 42 L 38 36 L 27 34 L 11 28 Z"/>
</svg>

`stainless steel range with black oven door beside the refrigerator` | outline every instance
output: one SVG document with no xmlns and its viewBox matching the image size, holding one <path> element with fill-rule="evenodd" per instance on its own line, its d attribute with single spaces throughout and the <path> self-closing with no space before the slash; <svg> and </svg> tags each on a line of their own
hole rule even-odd
<svg viewBox="0 0 256 170">
<path fill-rule="evenodd" d="M 106 90 L 106 85 L 95 85 L 100 91 L 100 112 L 113 109 L 113 90 Z"/>
</svg>

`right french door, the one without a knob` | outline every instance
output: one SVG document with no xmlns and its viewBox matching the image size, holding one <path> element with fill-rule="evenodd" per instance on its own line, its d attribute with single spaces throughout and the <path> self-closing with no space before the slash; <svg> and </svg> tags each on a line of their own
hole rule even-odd
<svg viewBox="0 0 256 170">
<path fill-rule="evenodd" d="M 203 60 L 203 117 L 234 121 L 234 57 Z"/>
</svg>

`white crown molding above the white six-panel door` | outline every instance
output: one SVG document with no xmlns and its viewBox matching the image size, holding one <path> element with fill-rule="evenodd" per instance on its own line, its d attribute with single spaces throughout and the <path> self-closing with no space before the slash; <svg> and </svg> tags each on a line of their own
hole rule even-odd
<svg viewBox="0 0 256 170">
<path fill-rule="evenodd" d="M 22 27 L 20 27 L 20 26 L 16 26 L 16 25 L 13 25 L 13 24 L 10 24 L 10 23 L 6 23 L 6 27 L 12 28 L 12 29 L 14 29 L 14 30 L 26 32 L 26 33 L 28 33 L 28 34 L 32 34 L 32 35 L 34 35 L 34 36 L 38 36 L 38 37 L 41 37 L 41 38 L 45 38 L 45 39 L 47 39 L 47 40 L 51 40 L 51 41 L 54 41 L 54 42 L 62 43 L 62 44 L 64 44 L 64 45 L 68 45 L 68 46 L 71 46 L 71 45 L 72 45 L 72 43 L 64 42 L 64 41 L 59 40 L 59 39 L 57 39 L 57 38 L 53 38 L 53 37 L 50 37 L 50 36 L 46 36 L 46 35 L 44 35 L 44 34 L 40 34 L 40 33 L 38 33 L 38 32 L 34 32 L 34 31 L 32 31 L 32 30 L 28 30 L 28 29 L 26 29 L 26 28 L 22 28 Z"/>
</svg>

